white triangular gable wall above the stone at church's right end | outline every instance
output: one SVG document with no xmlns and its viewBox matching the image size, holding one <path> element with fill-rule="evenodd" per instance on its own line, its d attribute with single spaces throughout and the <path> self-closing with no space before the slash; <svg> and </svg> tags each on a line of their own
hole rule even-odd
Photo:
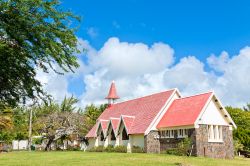
<svg viewBox="0 0 250 166">
<path fill-rule="evenodd" d="M 229 125 L 224 117 L 223 110 L 220 110 L 214 99 L 209 102 L 200 119 L 198 120 L 198 124 Z"/>
</svg>

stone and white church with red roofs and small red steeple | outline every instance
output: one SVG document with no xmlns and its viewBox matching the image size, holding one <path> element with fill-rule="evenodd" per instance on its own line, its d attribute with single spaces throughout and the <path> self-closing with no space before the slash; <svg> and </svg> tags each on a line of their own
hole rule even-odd
<svg viewBox="0 0 250 166">
<path fill-rule="evenodd" d="M 117 102 L 112 82 L 109 106 L 88 132 L 88 149 L 94 146 L 140 146 L 146 153 L 174 148 L 184 138 L 192 141 L 192 154 L 233 158 L 236 128 L 214 92 L 182 97 L 178 89 Z"/>
</svg>

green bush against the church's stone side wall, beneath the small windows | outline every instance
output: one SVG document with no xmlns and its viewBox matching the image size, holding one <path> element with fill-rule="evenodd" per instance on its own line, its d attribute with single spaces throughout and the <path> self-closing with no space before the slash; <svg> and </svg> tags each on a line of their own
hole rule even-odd
<svg viewBox="0 0 250 166">
<path fill-rule="evenodd" d="M 178 156 L 187 156 L 190 151 L 192 141 L 190 138 L 184 138 L 181 142 L 177 144 L 176 148 L 167 149 L 166 153 Z"/>
</svg>

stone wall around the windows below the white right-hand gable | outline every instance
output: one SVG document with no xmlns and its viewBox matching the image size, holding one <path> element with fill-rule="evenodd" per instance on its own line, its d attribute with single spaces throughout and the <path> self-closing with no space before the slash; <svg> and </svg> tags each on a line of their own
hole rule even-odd
<svg viewBox="0 0 250 166">
<path fill-rule="evenodd" d="M 208 142 L 207 125 L 200 125 L 195 133 L 197 156 L 228 159 L 234 157 L 232 130 L 228 126 L 222 127 L 223 142 Z"/>
</svg>

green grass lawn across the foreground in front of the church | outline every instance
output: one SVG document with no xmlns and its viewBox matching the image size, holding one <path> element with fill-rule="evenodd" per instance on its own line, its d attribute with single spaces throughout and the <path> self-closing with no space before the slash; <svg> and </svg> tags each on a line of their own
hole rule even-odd
<svg viewBox="0 0 250 166">
<path fill-rule="evenodd" d="M 0 165 L 201 165 L 250 166 L 250 159 L 233 160 L 180 157 L 165 154 L 94 153 L 94 152 L 10 152 L 0 153 Z"/>
</svg>

